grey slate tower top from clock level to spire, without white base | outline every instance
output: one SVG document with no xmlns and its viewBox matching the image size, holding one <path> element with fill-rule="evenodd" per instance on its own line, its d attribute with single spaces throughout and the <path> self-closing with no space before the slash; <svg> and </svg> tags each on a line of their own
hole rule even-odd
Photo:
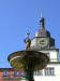
<svg viewBox="0 0 60 81">
<path fill-rule="evenodd" d="M 35 32 L 34 39 L 31 41 L 31 49 L 50 49 L 55 48 L 55 39 L 50 37 L 50 32 L 45 29 L 44 17 L 41 17 L 41 29 Z"/>
</svg>

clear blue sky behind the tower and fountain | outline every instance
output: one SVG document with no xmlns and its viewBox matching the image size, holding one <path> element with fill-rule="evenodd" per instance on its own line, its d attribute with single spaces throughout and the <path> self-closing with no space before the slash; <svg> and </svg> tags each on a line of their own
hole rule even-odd
<svg viewBox="0 0 60 81">
<path fill-rule="evenodd" d="M 40 10 L 45 28 L 60 49 L 60 0 L 0 0 L 0 68 L 11 68 L 8 56 L 26 49 L 27 32 L 34 38 L 40 29 Z"/>
</svg>

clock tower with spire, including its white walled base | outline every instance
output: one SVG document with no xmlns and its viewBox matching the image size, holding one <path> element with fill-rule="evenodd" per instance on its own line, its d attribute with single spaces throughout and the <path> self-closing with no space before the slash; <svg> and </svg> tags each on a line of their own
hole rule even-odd
<svg viewBox="0 0 60 81">
<path fill-rule="evenodd" d="M 38 50 L 49 56 L 50 62 L 58 60 L 59 50 L 55 46 L 55 39 L 50 37 L 50 32 L 45 29 L 45 18 L 40 19 L 40 29 L 35 32 L 34 38 L 31 40 L 30 48 Z"/>
</svg>

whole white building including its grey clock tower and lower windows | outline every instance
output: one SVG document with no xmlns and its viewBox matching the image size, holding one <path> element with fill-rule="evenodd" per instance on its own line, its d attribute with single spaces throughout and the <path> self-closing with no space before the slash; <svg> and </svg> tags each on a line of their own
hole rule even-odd
<svg viewBox="0 0 60 81">
<path fill-rule="evenodd" d="M 43 70 L 34 72 L 35 81 L 60 81 L 60 62 L 58 60 L 59 49 L 55 46 L 55 39 L 45 29 L 44 17 L 40 19 L 41 29 L 35 32 L 31 40 L 31 49 L 45 53 L 50 62 Z"/>
</svg>

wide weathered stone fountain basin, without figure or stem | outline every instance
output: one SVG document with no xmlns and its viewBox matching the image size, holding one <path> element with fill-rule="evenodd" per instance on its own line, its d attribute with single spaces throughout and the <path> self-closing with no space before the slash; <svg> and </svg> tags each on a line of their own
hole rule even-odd
<svg viewBox="0 0 60 81">
<path fill-rule="evenodd" d="M 11 66 L 17 70 L 25 70 L 25 67 L 30 66 L 34 68 L 33 71 L 42 70 L 49 63 L 49 57 L 34 50 L 24 50 L 14 52 L 9 55 L 8 60 Z"/>
</svg>

